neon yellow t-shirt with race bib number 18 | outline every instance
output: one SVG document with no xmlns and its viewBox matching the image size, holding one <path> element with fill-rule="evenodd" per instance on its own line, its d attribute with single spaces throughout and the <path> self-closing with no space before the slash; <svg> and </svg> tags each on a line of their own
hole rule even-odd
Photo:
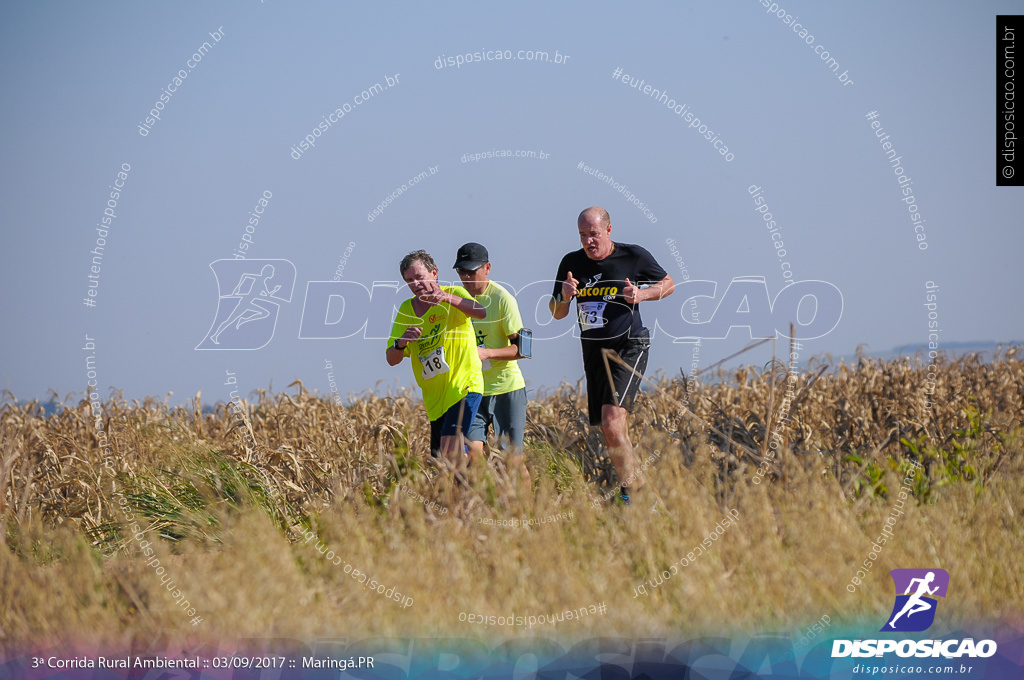
<svg viewBox="0 0 1024 680">
<path fill-rule="evenodd" d="M 462 286 L 441 286 L 441 290 L 473 299 Z M 469 316 L 449 304 L 435 304 L 417 316 L 410 298 L 398 307 L 388 346 L 393 347 L 394 341 L 412 327 L 422 328 L 423 335 L 406 345 L 402 354 L 412 357 L 413 375 L 423 390 L 427 418 L 437 420 L 469 392 L 483 393 L 480 355 Z"/>
</svg>

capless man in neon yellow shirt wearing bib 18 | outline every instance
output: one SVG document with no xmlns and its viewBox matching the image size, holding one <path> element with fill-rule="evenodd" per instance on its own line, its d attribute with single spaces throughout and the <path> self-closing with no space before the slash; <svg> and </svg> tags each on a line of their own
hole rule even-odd
<svg viewBox="0 0 1024 680">
<path fill-rule="evenodd" d="M 458 463 L 483 392 L 480 357 L 471 318 L 484 308 L 461 286 L 440 286 L 437 265 L 423 250 L 399 265 L 413 297 L 398 307 L 388 338 L 389 366 L 412 359 L 413 375 L 423 390 L 430 419 L 431 454 Z"/>
</svg>

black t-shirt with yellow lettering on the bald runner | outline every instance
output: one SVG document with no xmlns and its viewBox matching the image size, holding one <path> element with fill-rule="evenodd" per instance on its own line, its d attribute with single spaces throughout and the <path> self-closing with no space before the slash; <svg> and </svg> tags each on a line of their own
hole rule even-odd
<svg viewBox="0 0 1024 680">
<path fill-rule="evenodd" d="M 643 322 L 639 307 L 627 304 L 623 298 L 626 280 L 641 286 L 656 284 L 668 275 L 646 249 L 627 243 L 612 242 L 612 245 L 614 250 L 603 260 L 590 259 L 581 248 L 567 254 L 558 264 L 552 295 L 558 298 L 562 282 L 571 271 L 572 278 L 580 282 L 577 314 L 585 339 L 617 338 L 626 333 L 637 337 Z"/>
</svg>

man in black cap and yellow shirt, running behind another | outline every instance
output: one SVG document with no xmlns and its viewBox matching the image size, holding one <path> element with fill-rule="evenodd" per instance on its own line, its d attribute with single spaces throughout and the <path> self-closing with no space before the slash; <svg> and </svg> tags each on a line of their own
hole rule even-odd
<svg viewBox="0 0 1024 680">
<path fill-rule="evenodd" d="M 526 382 L 516 359 L 521 358 L 513 344 L 522 330 L 522 316 L 515 297 L 497 282 L 490 281 L 487 249 L 468 243 L 456 254 L 455 270 L 466 290 L 486 310 L 482 320 L 473 320 L 476 344 L 483 366 L 483 399 L 469 428 L 471 461 L 483 455 L 487 429 L 494 425 L 495 437 L 504 448 L 510 447 L 509 470 L 518 470 L 523 485 L 530 491 L 529 471 L 523 462 L 522 439 L 526 429 Z"/>
</svg>

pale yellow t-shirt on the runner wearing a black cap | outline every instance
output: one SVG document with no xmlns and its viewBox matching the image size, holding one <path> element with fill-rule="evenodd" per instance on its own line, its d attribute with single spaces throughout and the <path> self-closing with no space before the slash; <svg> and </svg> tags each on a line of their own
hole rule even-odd
<svg viewBox="0 0 1024 680">
<path fill-rule="evenodd" d="M 505 288 L 490 282 L 476 301 L 487 310 L 482 320 L 474 318 L 476 344 L 488 349 L 501 349 L 512 344 L 509 336 L 522 329 L 522 316 L 515 298 Z M 505 394 L 526 386 L 522 371 L 515 359 L 487 359 L 490 368 L 483 372 L 483 395 Z"/>
</svg>

